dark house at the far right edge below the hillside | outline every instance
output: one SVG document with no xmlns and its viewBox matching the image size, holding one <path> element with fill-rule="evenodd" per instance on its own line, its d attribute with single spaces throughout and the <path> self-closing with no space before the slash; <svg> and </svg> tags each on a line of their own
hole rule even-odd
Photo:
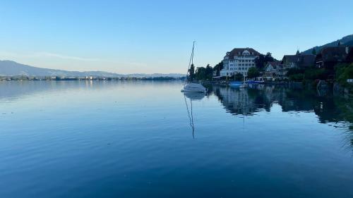
<svg viewBox="0 0 353 198">
<path fill-rule="evenodd" d="M 333 68 L 337 63 L 352 63 L 353 47 L 325 47 L 316 56 L 316 67 Z"/>
</svg>

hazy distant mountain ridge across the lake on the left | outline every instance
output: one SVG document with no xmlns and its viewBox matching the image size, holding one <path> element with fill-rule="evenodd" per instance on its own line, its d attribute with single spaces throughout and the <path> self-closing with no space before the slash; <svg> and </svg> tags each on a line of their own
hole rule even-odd
<svg viewBox="0 0 353 198">
<path fill-rule="evenodd" d="M 117 74 L 109 73 L 104 71 L 67 71 L 67 70 L 53 70 L 47 68 L 37 68 L 33 66 L 16 63 L 15 61 L 0 61 L 0 75 L 13 76 L 13 75 L 27 75 L 27 76 L 66 76 L 66 77 L 84 77 L 84 76 L 95 76 L 95 77 L 107 77 L 107 78 L 120 78 L 120 77 L 173 77 L 179 78 L 185 76 L 180 73 L 136 73 L 136 74 Z"/>
</svg>

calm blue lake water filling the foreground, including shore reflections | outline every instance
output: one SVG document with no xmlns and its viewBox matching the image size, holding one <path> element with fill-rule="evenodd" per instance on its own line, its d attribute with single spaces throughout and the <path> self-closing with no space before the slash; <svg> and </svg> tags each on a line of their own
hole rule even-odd
<svg viewBox="0 0 353 198">
<path fill-rule="evenodd" d="M 353 197 L 352 99 L 181 87 L 0 82 L 0 197 Z"/>
</svg>

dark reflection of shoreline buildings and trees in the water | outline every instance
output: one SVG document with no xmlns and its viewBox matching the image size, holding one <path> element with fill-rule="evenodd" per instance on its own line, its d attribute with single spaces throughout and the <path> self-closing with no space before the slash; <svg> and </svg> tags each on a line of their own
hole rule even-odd
<svg viewBox="0 0 353 198">
<path fill-rule="evenodd" d="M 313 112 L 320 123 L 347 128 L 347 144 L 353 147 L 353 99 L 335 96 L 316 89 L 290 89 L 286 86 L 257 85 L 249 89 L 213 86 L 212 93 L 234 116 L 253 116 L 258 111 L 270 112 L 279 104 L 283 112 Z"/>
</svg>

